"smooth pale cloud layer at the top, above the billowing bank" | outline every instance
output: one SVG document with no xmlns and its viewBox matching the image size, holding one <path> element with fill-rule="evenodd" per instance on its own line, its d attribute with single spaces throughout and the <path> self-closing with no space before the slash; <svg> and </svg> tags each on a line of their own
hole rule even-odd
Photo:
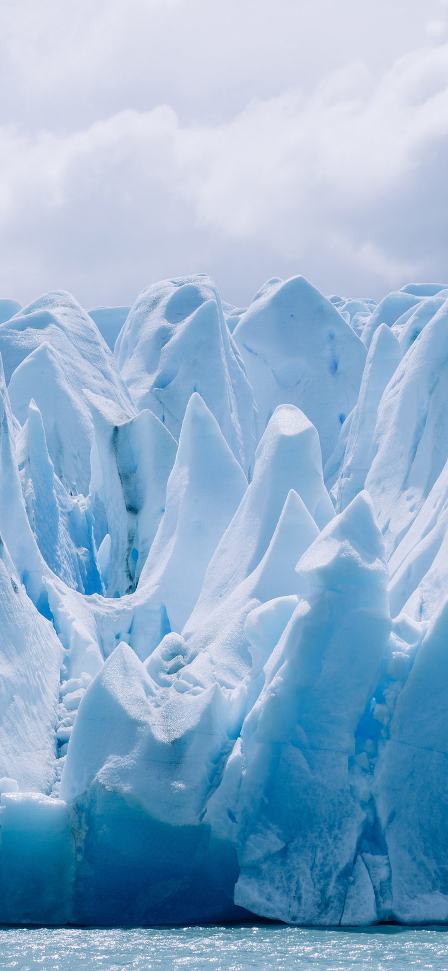
<svg viewBox="0 0 448 971">
<path fill-rule="evenodd" d="M 70 131 L 167 102 L 217 123 L 357 52 L 381 73 L 439 16 L 437 0 L 2 0 L 3 117 Z"/>
</svg>

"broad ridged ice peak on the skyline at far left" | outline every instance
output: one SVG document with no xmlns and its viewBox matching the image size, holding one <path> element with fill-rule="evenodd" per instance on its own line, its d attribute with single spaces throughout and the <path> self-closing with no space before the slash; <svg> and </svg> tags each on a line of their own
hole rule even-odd
<svg viewBox="0 0 448 971">
<path fill-rule="evenodd" d="M 56 291 L 0 325 L 0 351 L 16 417 L 24 423 L 34 398 L 56 475 L 86 495 L 93 424 L 84 389 L 109 398 L 128 418 L 136 414 L 99 330 L 69 293 Z"/>
</svg>

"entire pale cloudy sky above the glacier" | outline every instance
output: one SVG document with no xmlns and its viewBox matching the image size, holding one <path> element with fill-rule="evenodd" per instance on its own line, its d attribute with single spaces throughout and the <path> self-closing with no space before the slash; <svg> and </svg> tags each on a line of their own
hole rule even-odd
<svg viewBox="0 0 448 971">
<path fill-rule="evenodd" d="M 0 295 L 448 283 L 448 0 L 2 0 Z"/>
</svg>

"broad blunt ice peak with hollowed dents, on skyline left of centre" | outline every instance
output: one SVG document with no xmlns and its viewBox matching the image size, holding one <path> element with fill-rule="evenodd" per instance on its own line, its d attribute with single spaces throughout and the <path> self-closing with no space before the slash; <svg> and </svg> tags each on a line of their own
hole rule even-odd
<svg viewBox="0 0 448 971">
<path fill-rule="evenodd" d="M 149 286 L 131 308 L 115 348 L 138 407 L 149 408 L 177 439 L 198 391 L 245 472 L 255 451 L 253 393 L 206 276 Z"/>
</svg>

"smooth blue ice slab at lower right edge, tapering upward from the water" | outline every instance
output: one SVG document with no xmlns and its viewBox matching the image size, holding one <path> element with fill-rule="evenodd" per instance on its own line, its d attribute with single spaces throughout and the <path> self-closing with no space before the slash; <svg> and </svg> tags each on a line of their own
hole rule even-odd
<svg viewBox="0 0 448 971">
<path fill-rule="evenodd" d="M 407 680 L 400 667 L 394 672 L 400 693 L 375 768 L 376 804 L 391 865 L 391 918 L 403 923 L 448 921 L 447 641 L 445 587 L 445 601 L 413 664 L 409 658 Z"/>
</svg>

